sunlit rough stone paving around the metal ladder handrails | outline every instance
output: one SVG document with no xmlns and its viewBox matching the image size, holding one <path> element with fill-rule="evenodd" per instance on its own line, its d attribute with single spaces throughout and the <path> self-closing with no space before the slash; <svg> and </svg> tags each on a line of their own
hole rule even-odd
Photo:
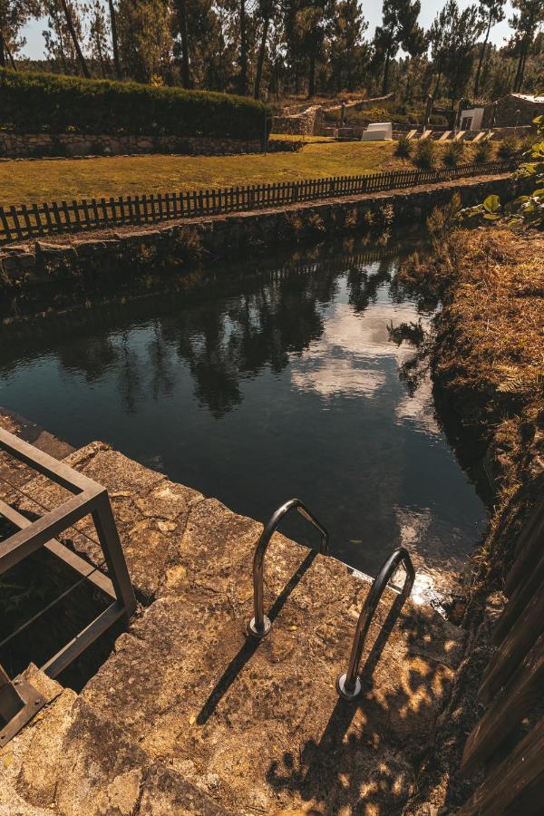
<svg viewBox="0 0 544 816">
<path fill-rule="evenodd" d="M 339 700 L 366 580 L 277 535 L 265 564 L 273 626 L 257 645 L 245 635 L 257 521 L 103 442 L 65 461 L 108 487 L 141 606 L 81 694 L 29 668 L 51 702 L 0 751 L 0 814 L 401 813 L 461 629 L 408 601 L 386 639 L 388 590 L 361 698 Z M 3 498 L 35 512 L 62 498 L 28 476 Z M 70 540 L 101 563 L 89 524 Z"/>
</svg>

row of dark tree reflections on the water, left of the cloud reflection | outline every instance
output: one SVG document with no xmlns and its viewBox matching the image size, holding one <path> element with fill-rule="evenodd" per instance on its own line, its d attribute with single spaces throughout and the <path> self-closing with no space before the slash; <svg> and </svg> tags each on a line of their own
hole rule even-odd
<svg viewBox="0 0 544 816">
<path fill-rule="evenodd" d="M 323 309 L 343 280 L 355 312 L 374 303 L 380 287 L 391 285 L 395 254 L 391 248 L 346 253 L 327 245 L 293 257 L 285 267 L 243 278 L 238 296 L 225 296 L 218 283 L 215 299 L 207 291 L 200 302 L 198 293 L 192 302 L 187 294 L 171 300 L 140 335 L 143 348 L 141 339 L 133 342 L 131 327 L 116 331 L 108 320 L 97 332 L 99 311 L 88 313 L 88 333 L 70 335 L 55 350 L 64 370 L 91 383 L 114 369 L 128 413 L 146 393 L 159 399 L 173 392 L 177 355 L 189 365 L 199 403 L 219 417 L 241 403 L 244 378 L 265 366 L 279 374 L 290 355 L 301 355 L 323 335 Z"/>
</svg>

